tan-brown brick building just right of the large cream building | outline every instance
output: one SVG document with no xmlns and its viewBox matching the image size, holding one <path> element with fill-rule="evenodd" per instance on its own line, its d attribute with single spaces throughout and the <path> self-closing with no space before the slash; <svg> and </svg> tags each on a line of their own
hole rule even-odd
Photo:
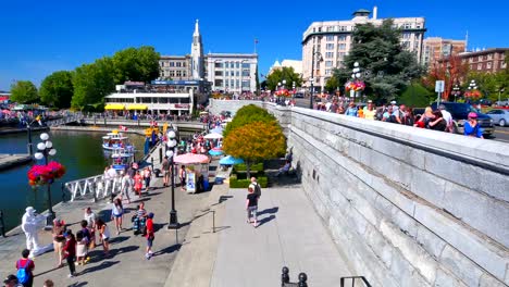
<svg viewBox="0 0 509 287">
<path fill-rule="evenodd" d="M 424 39 L 421 63 L 432 67 L 439 59 L 464 52 L 467 40 L 430 37 Z"/>
</svg>

